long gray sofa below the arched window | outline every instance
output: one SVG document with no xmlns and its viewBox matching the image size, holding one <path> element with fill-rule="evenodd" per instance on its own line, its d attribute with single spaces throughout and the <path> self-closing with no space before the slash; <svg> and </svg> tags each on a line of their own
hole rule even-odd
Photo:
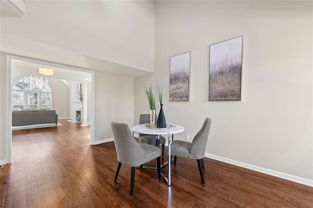
<svg viewBox="0 0 313 208">
<path fill-rule="evenodd" d="M 21 110 L 12 111 L 12 126 L 58 124 L 58 114 L 55 110 Z"/>
</svg>

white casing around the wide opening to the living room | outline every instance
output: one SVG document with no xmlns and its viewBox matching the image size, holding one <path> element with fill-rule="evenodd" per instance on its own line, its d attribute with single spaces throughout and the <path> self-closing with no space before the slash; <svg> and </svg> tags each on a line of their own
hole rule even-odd
<svg viewBox="0 0 313 208">
<path fill-rule="evenodd" d="M 73 79 L 74 75 L 80 76 L 83 74 L 89 75 L 89 84 L 90 84 L 90 90 L 89 90 L 89 125 L 90 125 L 90 145 L 94 145 L 94 71 L 91 71 L 89 69 L 84 68 L 78 68 L 73 66 L 67 66 L 59 63 L 54 62 L 47 62 L 43 60 L 34 60 L 31 58 L 25 58 L 25 57 L 19 57 L 19 56 L 12 56 L 7 55 L 7 76 L 6 76 L 6 93 L 7 93 L 7 113 L 6 113 L 6 135 L 7 135 L 7 145 L 6 145 L 6 158 L 7 163 L 12 162 L 12 63 L 13 62 L 25 62 L 25 63 L 31 63 L 31 64 L 37 64 L 37 65 L 44 65 L 51 68 L 55 68 L 60 70 L 61 72 L 63 70 L 63 81 L 69 79 L 68 77 L 71 77 Z M 35 68 L 35 70 L 38 70 L 38 68 Z M 55 77 L 55 79 L 61 79 L 62 73 L 58 73 L 58 76 Z M 86 82 L 86 80 L 85 80 Z"/>
</svg>

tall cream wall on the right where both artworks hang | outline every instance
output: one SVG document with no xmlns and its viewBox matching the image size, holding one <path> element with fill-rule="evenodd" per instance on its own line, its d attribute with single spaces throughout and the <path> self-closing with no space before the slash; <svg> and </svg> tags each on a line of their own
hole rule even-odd
<svg viewBox="0 0 313 208">
<path fill-rule="evenodd" d="M 313 180 L 312 2 L 156 1 L 155 12 L 156 73 L 135 78 L 134 123 L 149 112 L 143 87 L 159 83 L 167 123 L 185 126 L 176 139 L 210 117 L 206 153 Z M 208 102 L 209 45 L 241 35 L 242 101 Z M 187 51 L 190 101 L 169 102 L 170 57 Z"/>
</svg>

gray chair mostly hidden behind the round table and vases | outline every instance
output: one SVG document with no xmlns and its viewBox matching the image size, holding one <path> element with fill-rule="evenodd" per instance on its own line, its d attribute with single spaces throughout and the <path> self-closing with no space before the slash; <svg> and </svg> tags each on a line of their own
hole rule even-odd
<svg viewBox="0 0 313 208">
<path fill-rule="evenodd" d="M 140 114 L 139 124 L 150 123 L 150 114 Z M 164 161 L 165 138 L 160 135 L 160 144 L 162 145 L 162 161 Z M 157 146 L 157 135 L 139 134 L 139 142 Z"/>
</svg>

